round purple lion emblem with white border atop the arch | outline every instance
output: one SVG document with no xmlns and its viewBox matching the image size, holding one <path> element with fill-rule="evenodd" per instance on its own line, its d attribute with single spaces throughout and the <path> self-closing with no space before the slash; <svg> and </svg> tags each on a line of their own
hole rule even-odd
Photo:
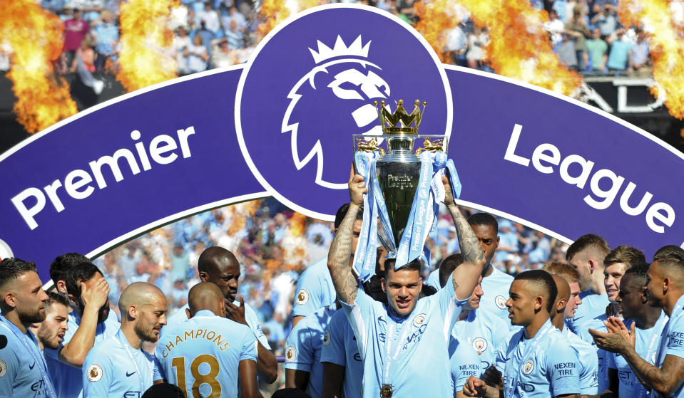
<svg viewBox="0 0 684 398">
<path fill-rule="evenodd" d="M 430 104 L 424 131 L 451 132 L 444 68 L 414 28 L 374 7 L 313 7 L 277 26 L 247 61 L 235 96 L 240 150 L 282 203 L 332 218 L 330 204 L 347 191 L 352 135 L 382 133 L 373 101 L 393 108 L 400 98 Z"/>
</svg>

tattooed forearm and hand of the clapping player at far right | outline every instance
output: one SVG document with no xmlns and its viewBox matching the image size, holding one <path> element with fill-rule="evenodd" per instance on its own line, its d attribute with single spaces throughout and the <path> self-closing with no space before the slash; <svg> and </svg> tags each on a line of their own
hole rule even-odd
<svg viewBox="0 0 684 398">
<path fill-rule="evenodd" d="M 658 368 L 640 357 L 623 334 L 618 332 L 603 333 L 593 329 L 589 329 L 589 332 L 597 347 L 621 354 L 636 377 L 645 384 L 645 387 L 669 397 L 682 385 L 684 381 L 684 358 L 665 355 L 663 367 Z"/>
</svg>

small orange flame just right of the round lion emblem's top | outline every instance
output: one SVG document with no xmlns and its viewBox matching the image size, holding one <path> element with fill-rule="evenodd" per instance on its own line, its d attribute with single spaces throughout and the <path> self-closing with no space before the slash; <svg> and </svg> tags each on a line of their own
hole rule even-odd
<svg viewBox="0 0 684 398">
<path fill-rule="evenodd" d="M 416 30 L 430 43 L 442 62 L 448 62 L 444 46 L 449 29 L 461 23 L 454 6 L 453 0 L 417 1 L 414 4 L 416 15 L 420 18 Z"/>
</svg>

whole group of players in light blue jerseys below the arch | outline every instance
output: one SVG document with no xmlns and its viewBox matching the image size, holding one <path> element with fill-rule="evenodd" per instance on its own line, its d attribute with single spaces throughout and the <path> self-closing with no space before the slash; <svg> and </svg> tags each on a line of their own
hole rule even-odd
<svg viewBox="0 0 684 398">
<path fill-rule="evenodd" d="M 448 184 L 446 179 L 445 184 Z M 363 178 L 349 181 L 327 259 L 297 282 L 274 397 L 684 397 L 684 250 L 648 264 L 593 234 L 568 263 L 515 278 L 491 266 L 496 219 L 465 219 L 448 194 L 460 253 L 427 281 L 421 263 L 378 252 L 359 283 L 351 266 Z M 240 264 L 220 247 L 198 260 L 201 283 L 166 317 L 150 283 L 118 298 L 88 258 L 51 263 L 46 293 L 34 263 L 0 263 L 0 397 L 261 397 L 277 360 L 257 316 L 236 300 Z"/>
</svg>

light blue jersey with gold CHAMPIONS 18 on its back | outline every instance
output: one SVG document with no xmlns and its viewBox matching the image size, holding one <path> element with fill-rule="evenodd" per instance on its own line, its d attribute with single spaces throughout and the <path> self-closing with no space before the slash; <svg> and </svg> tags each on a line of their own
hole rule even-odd
<svg viewBox="0 0 684 398">
<path fill-rule="evenodd" d="M 187 397 L 237 398 L 238 365 L 256 362 L 254 332 L 245 325 L 198 311 L 165 330 L 155 349 L 153 379 L 165 379 Z"/>
</svg>

